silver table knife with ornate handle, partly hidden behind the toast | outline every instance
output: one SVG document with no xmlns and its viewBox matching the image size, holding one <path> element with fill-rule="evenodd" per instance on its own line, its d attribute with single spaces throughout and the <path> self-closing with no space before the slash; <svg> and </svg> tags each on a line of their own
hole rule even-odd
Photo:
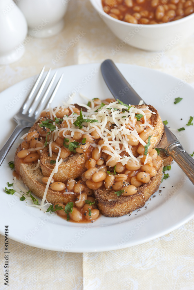
<svg viewBox="0 0 194 290">
<path fill-rule="evenodd" d="M 101 64 L 101 73 L 115 99 L 119 99 L 125 104 L 130 103 L 133 105 L 143 101 L 111 59 L 103 61 Z M 125 91 L 124 96 L 121 96 L 122 90 Z M 145 104 L 144 101 L 143 103 Z M 166 155 L 171 156 L 194 185 L 194 159 L 184 150 L 177 137 L 166 125 L 164 125 L 164 134 L 166 135 L 166 138 L 164 138 L 165 141 L 162 144 L 162 148 L 158 149 L 164 151 Z"/>
</svg>

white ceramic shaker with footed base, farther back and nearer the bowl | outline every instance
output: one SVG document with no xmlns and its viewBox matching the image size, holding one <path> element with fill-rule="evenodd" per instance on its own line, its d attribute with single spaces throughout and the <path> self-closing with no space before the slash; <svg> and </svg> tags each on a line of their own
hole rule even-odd
<svg viewBox="0 0 194 290">
<path fill-rule="evenodd" d="M 64 27 L 63 17 L 70 0 L 16 0 L 28 22 L 28 34 L 50 37 Z"/>
</svg>

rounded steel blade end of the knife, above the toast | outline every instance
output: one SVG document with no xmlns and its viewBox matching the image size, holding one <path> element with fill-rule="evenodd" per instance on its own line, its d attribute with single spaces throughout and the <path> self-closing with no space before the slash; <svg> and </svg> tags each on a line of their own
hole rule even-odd
<svg viewBox="0 0 194 290">
<path fill-rule="evenodd" d="M 123 77 L 121 72 L 115 66 L 111 59 L 106 59 L 101 64 L 102 76 L 115 99 L 122 97 L 125 104 L 138 105 L 142 98 L 130 86 L 128 81 Z"/>
</svg>

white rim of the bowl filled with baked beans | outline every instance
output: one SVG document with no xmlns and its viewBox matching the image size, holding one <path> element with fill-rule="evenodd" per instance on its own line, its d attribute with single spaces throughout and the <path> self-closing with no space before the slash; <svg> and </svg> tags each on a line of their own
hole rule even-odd
<svg viewBox="0 0 194 290">
<path fill-rule="evenodd" d="M 111 17 L 110 15 L 108 15 L 106 12 L 104 12 L 103 9 L 100 9 L 99 6 L 97 5 L 97 1 L 102 3 L 101 0 L 90 0 L 90 3 L 92 4 L 92 6 L 101 14 L 104 15 L 104 17 L 108 18 L 109 20 L 112 20 L 113 22 L 115 21 L 116 23 L 120 23 L 124 26 L 132 26 L 132 27 L 138 27 L 139 25 L 146 27 L 148 29 L 153 29 L 155 27 L 167 27 L 167 26 L 173 26 L 176 25 L 176 23 L 178 22 L 179 24 L 186 22 L 192 18 L 194 18 L 194 12 L 191 13 L 190 15 L 187 15 L 181 19 L 177 19 L 174 21 L 170 21 L 170 22 L 166 22 L 166 23 L 158 23 L 158 24 L 134 24 L 134 23 L 129 23 L 129 22 L 125 22 L 119 19 L 116 19 L 114 17 Z M 101 5 L 102 8 L 102 5 Z"/>
</svg>

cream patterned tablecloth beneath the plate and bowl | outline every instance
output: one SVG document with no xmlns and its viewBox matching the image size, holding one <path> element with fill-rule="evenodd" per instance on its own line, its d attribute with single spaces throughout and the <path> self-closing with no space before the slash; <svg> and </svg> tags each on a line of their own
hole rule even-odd
<svg viewBox="0 0 194 290">
<path fill-rule="evenodd" d="M 43 65 L 59 68 L 99 63 L 111 58 L 115 62 L 144 66 L 180 79 L 185 79 L 194 70 L 194 35 L 163 55 L 128 45 L 116 52 L 120 40 L 102 22 L 89 0 L 70 0 L 64 19 L 64 29 L 58 35 L 30 39 L 19 61 L 0 66 L 0 92 L 38 74 Z M 84 36 L 55 61 L 79 32 Z M 194 86 L 194 77 L 186 79 Z M 0 289 L 7 289 L 3 281 L 3 236 L 0 235 L 0 239 Z M 108 252 L 54 252 L 10 240 L 10 289 L 191 290 L 194 289 L 193 241 L 194 220 L 153 241 Z"/>
</svg>

